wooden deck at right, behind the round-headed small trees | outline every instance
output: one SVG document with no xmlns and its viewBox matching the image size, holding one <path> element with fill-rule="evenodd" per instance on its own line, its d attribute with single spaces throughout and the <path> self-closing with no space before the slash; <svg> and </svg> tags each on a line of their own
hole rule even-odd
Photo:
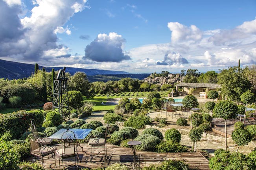
<svg viewBox="0 0 256 170">
<path fill-rule="evenodd" d="M 240 121 L 239 118 L 236 119 L 227 119 L 227 137 L 231 137 L 232 132 L 234 131 L 234 124 Z M 242 119 L 243 121 L 243 119 Z M 245 126 L 253 125 L 255 122 L 245 120 Z M 225 122 L 222 118 L 213 118 L 212 119 L 212 131 L 221 134 L 225 137 Z"/>
</svg>

